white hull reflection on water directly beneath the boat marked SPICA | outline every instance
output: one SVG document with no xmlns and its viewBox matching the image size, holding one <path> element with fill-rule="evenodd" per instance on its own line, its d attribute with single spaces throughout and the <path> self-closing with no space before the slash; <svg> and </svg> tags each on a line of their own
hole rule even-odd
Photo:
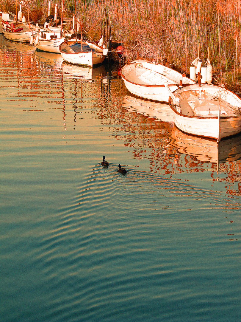
<svg viewBox="0 0 241 322">
<path fill-rule="evenodd" d="M 65 76 L 69 75 L 69 78 L 78 78 L 86 81 L 92 81 L 94 77 L 106 75 L 104 65 L 98 67 L 80 67 L 78 65 L 68 64 L 67 62 L 62 62 L 62 71 Z"/>
</svg>

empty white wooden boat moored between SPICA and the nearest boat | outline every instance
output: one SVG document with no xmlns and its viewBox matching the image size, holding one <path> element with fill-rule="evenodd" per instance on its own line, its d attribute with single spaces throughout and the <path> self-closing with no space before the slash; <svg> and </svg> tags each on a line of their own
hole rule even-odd
<svg viewBox="0 0 241 322">
<path fill-rule="evenodd" d="M 172 92 L 184 85 L 195 83 L 185 74 L 157 62 L 141 59 L 124 65 L 121 68 L 121 77 L 131 94 L 160 102 L 168 102 L 170 96 L 165 82 Z"/>
</svg>

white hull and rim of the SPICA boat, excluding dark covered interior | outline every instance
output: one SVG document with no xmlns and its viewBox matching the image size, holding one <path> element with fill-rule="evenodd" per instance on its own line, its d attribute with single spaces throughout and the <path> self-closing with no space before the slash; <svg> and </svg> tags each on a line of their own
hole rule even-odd
<svg viewBox="0 0 241 322">
<path fill-rule="evenodd" d="M 89 67 L 103 63 L 106 57 L 105 55 L 103 55 L 103 48 L 89 42 L 83 42 L 83 44 L 89 45 L 92 49 L 91 52 L 65 52 L 64 51 L 64 47 L 74 44 L 75 42 L 76 42 L 75 39 L 71 39 L 60 46 L 59 50 L 65 62 L 68 62 L 70 64 L 75 64 L 75 65 L 89 66 Z M 78 44 L 80 45 L 80 41 L 78 41 Z"/>
</svg>

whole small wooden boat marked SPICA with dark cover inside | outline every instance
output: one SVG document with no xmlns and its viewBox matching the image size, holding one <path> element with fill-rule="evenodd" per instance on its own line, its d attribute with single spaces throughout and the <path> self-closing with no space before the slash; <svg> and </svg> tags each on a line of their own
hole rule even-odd
<svg viewBox="0 0 241 322">
<path fill-rule="evenodd" d="M 107 52 L 102 46 L 76 39 L 70 39 L 59 46 L 59 51 L 65 62 L 90 66 L 103 63 Z M 107 50 L 106 50 L 107 51 Z"/>
</svg>

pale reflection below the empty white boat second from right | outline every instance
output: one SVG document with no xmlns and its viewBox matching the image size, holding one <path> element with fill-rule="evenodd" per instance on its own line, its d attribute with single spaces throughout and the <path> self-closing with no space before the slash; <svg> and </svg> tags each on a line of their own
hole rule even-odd
<svg viewBox="0 0 241 322">
<path fill-rule="evenodd" d="M 126 95 L 123 98 L 122 105 L 123 107 L 127 107 L 129 112 L 136 112 L 145 116 L 156 118 L 157 121 L 174 123 L 172 110 L 167 104 Z"/>
</svg>

